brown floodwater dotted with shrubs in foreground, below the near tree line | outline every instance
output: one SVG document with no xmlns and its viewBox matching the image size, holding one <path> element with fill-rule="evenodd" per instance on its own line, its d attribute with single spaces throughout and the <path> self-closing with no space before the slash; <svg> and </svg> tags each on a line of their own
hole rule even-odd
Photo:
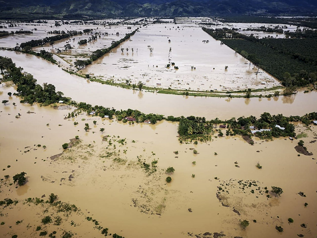
<svg viewBox="0 0 317 238">
<path fill-rule="evenodd" d="M 128 125 L 85 115 L 64 120 L 64 115 L 70 110 L 20 104 L 19 98 L 7 95 L 14 92 L 12 87 L 6 87 L 7 84 L 0 87 L 0 100 L 9 98 L 7 105 L 0 105 L 0 157 L 4 158 L 0 160 L 0 168 L 6 168 L 0 171 L 0 177 L 8 174 L 12 180 L 13 175 L 25 171 L 28 182 L 17 189 L 14 185 L 2 187 L 0 200 L 6 197 L 23 200 L 55 193 L 59 200 L 75 204 L 86 216 L 102 222 L 109 232 L 130 238 L 182 238 L 188 237 L 188 232 L 193 235 L 223 232 L 226 237 L 267 238 L 280 235 L 275 230 L 276 225 L 284 228 L 285 237 L 295 237 L 296 234 L 315 237 L 317 233 L 317 164 L 316 160 L 312 160 L 314 156 L 297 156 L 294 150 L 297 141 L 280 138 L 265 142 L 256 139 L 255 145 L 250 146 L 241 137 L 235 136 L 213 137 L 211 142 L 197 145 L 180 144 L 176 137 L 177 123 L 165 121 L 157 125 Z M 27 111 L 35 113 L 27 114 Z M 18 119 L 15 118 L 17 113 L 21 114 Z M 93 125 L 93 120 L 97 121 L 96 125 Z M 74 126 L 74 121 L 79 124 Z M 91 127 L 89 132 L 83 130 L 85 123 Z M 105 128 L 105 132 L 101 133 L 100 128 Z M 296 130 L 307 133 L 308 137 L 303 138 L 305 146 L 316 155 L 315 144 L 309 142 L 317 135 L 317 127 L 307 130 L 299 124 Z M 68 149 L 62 159 L 49 159 L 61 153 L 61 145 L 76 135 L 82 140 L 82 146 Z M 108 142 L 101 141 L 104 135 L 111 136 L 117 152 L 121 150 L 120 157 L 127 160 L 125 164 L 100 157 L 109 150 L 106 148 Z M 127 144 L 116 143 L 117 136 L 125 138 Z M 34 146 L 37 144 L 47 148 Z M 24 153 L 27 146 L 30 146 L 30 151 Z M 197 149 L 199 154 L 194 155 L 190 148 Z M 173 151 L 178 151 L 177 158 Z M 147 163 L 158 160 L 157 172 L 146 176 L 136 164 L 137 155 Z M 193 161 L 196 165 L 192 164 Z M 240 167 L 235 167 L 234 162 Z M 263 166 L 261 170 L 255 166 L 258 162 Z M 7 165 L 11 167 L 7 168 Z M 175 172 L 170 175 L 172 182 L 166 185 L 164 170 L 170 166 Z M 71 181 L 62 180 L 69 175 L 73 177 Z M 256 184 L 262 190 L 265 186 L 269 190 L 271 186 L 278 186 L 284 193 L 275 197 L 269 192 L 273 197 L 267 199 L 266 194 L 258 195 L 257 187 L 254 187 L 255 194 L 250 192 L 251 188 L 239 189 L 235 180 L 258 181 Z M 226 183 L 228 185 L 221 185 Z M 222 195 L 222 201 L 229 207 L 218 201 L 217 186 L 228 190 L 229 195 Z M 306 197 L 298 195 L 300 191 Z M 22 209 L 22 202 L 18 206 Z M 192 212 L 188 211 L 189 208 Z M 234 213 L 233 208 L 241 215 Z M 6 237 L 13 234 L 38 237 L 35 228 L 42 217 L 39 219 L 36 214 L 42 214 L 41 206 L 34 206 L 28 213 L 24 209 L 14 211 L 15 208 L 3 209 L 2 212 L 9 216 L 0 219 L 5 221 L 0 227 L 1 234 Z M 149 211 L 154 211 L 154 214 Z M 77 235 L 95 236 L 96 232 L 87 234 L 92 229 L 89 229 L 84 217 L 82 221 L 75 220 L 78 224 L 76 228 L 69 226 L 73 217 L 68 221 L 62 218 L 69 229 L 79 229 L 76 230 Z M 289 217 L 294 219 L 294 223 L 288 224 Z M 244 219 L 250 222 L 245 230 L 239 226 L 240 220 Z M 15 225 L 17 220 L 23 222 Z M 302 223 L 307 228 L 301 228 Z M 27 225 L 29 228 L 26 228 Z M 49 232 L 57 228 L 49 228 Z"/>
</svg>

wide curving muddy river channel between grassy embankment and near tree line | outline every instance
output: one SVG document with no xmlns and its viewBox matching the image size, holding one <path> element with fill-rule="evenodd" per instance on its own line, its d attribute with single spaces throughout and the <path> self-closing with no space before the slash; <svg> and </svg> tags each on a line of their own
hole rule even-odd
<svg viewBox="0 0 317 238">
<path fill-rule="evenodd" d="M 282 113 L 285 116 L 304 115 L 316 111 L 317 91 L 300 91 L 293 96 L 272 98 L 216 98 L 157 94 L 153 92 L 122 89 L 70 75 L 56 65 L 33 55 L 0 51 L 1 56 L 12 58 L 18 67 L 32 74 L 39 84 L 52 83 L 77 102 L 138 109 L 144 113 L 165 116 L 205 116 L 207 119 L 230 119 L 240 116 L 260 116 L 263 112 Z"/>
</svg>

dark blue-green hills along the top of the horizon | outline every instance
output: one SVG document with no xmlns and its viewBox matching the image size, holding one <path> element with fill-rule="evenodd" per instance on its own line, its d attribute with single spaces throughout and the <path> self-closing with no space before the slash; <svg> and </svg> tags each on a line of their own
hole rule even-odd
<svg viewBox="0 0 317 238">
<path fill-rule="evenodd" d="M 18 15 L 91 17 L 311 15 L 317 0 L 0 0 L 1 18 Z"/>
</svg>

